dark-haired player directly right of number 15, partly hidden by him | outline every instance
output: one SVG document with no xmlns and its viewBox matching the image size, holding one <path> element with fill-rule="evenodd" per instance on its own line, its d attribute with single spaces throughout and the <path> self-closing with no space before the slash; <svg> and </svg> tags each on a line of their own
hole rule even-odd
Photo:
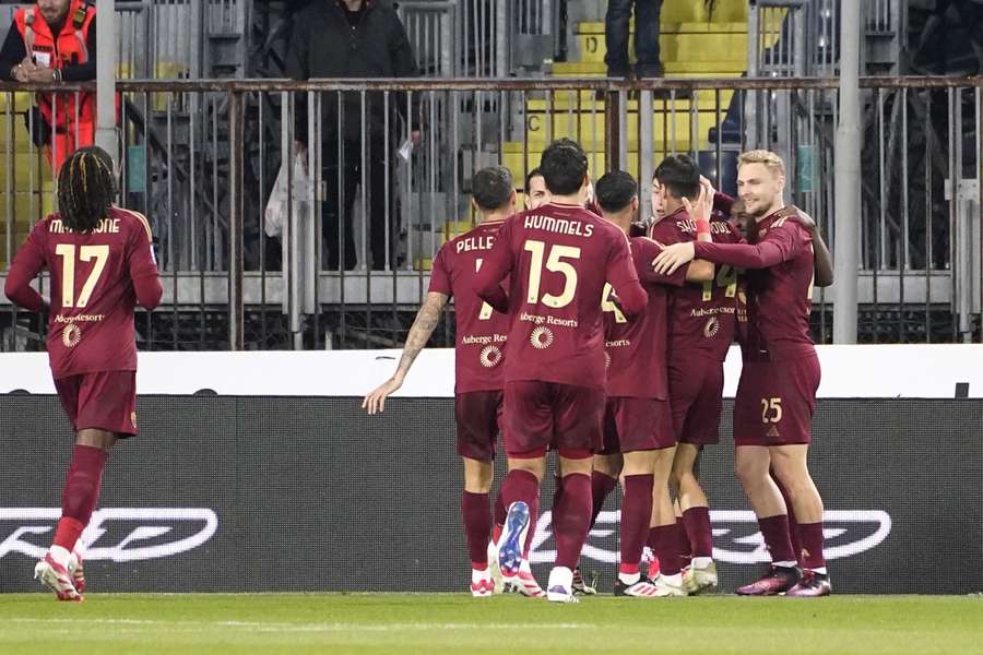
<svg viewBox="0 0 983 655">
<path fill-rule="evenodd" d="M 638 212 L 638 182 L 624 171 L 608 172 L 597 181 L 597 202 L 605 221 L 626 235 Z M 701 198 L 702 199 L 702 198 Z M 644 237 L 630 239 L 631 257 L 642 286 L 648 293 L 646 311 L 633 321 L 611 301 L 617 289 L 605 287 L 605 336 L 607 338 L 607 408 L 604 418 L 604 450 L 594 455 L 593 522 L 607 493 L 621 480 L 621 538 L 616 596 L 654 598 L 670 595 L 664 585 L 641 576 L 639 564 L 649 523 L 655 475 L 670 503 L 666 483 L 676 445 L 668 403 L 666 374 L 667 311 L 670 288 L 687 281 L 713 277 L 713 264 L 696 261 L 672 276 L 658 275 L 652 261 L 661 252 L 659 245 Z"/>
</svg>

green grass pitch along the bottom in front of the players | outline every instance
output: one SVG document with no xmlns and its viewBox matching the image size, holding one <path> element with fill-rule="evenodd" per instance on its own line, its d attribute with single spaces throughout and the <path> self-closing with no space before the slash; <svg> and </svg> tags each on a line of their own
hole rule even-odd
<svg viewBox="0 0 983 655">
<path fill-rule="evenodd" d="M 983 598 L 0 595 L 0 653 L 983 653 Z"/>
</svg>

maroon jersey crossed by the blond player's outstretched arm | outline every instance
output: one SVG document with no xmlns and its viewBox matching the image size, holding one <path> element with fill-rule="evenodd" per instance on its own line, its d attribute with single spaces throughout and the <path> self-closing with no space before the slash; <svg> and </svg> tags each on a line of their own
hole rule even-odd
<svg viewBox="0 0 983 655">
<path fill-rule="evenodd" d="M 696 221 L 679 209 L 652 226 L 652 238 L 664 246 L 696 241 Z M 710 223 L 714 242 L 736 243 L 741 235 L 727 221 Z M 670 354 L 689 357 L 694 353 L 723 361 L 734 341 L 737 310 L 737 271 L 718 266 L 710 282 L 689 283 L 674 289 L 670 299 Z"/>
</svg>

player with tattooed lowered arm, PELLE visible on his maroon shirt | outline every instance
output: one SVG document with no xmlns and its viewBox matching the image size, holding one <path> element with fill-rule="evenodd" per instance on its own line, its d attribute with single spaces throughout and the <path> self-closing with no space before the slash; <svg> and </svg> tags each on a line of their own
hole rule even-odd
<svg viewBox="0 0 983 655">
<path fill-rule="evenodd" d="M 417 355 L 430 340 L 445 305 L 454 298 L 454 420 L 457 450 L 464 465 L 461 519 L 471 558 L 471 593 L 475 597 L 485 597 L 494 590 L 488 561 L 489 550 L 494 550 L 488 548 L 488 544 L 494 543 L 489 539 L 493 529 L 489 495 L 495 440 L 501 417 L 508 317 L 493 311 L 477 297 L 473 286 L 499 228 L 516 211 L 512 176 L 502 166 L 483 168 L 472 179 L 472 203 L 481 216 L 479 224 L 448 241 L 437 252 L 427 297 L 410 329 L 396 371 L 366 395 L 362 406 L 369 414 L 382 412 L 386 398 L 403 385 Z M 533 505 L 535 508 L 535 502 Z M 505 523 L 505 508 L 496 508 L 496 513 L 501 514 L 498 522 Z M 535 516 L 535 511 L 532 515 Z M 525 583 L 535 585 L 528 595 L 544 595 L 531 571 Z"/>
</svg>

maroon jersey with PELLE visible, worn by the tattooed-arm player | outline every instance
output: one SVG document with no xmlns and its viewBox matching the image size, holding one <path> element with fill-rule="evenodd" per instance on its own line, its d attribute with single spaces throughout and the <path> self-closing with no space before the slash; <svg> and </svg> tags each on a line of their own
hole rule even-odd
<svg viewBox="0 0 983 655">
<path fill-rule="evenodd" d="M 454 390 L 494 391 L 504 386 L 509 317 L 492 310 L 474 293 L 474 277 L 504 222 L 483 223 L 440 247 L 430 271 L 430 290 L 454 298 Z"/>
</svg>

